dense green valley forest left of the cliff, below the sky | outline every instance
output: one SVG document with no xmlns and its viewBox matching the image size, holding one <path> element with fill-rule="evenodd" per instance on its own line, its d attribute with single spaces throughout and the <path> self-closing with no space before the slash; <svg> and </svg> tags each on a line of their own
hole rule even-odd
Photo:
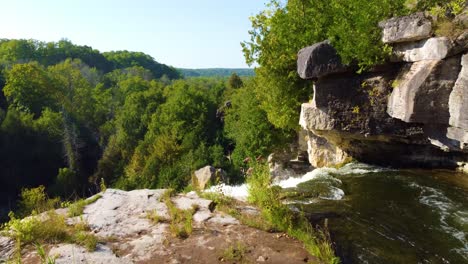
<svg viewBox="0 0 468 264">
<path fill-rule="evenodd" d="M 38 185 L 65 199 L 101 181 L 181 189 L 207 164 L 235 180 L 242 159 L 274 144 L 266 114 L 244 101 L 252 80 L 237 74 L 184 80 L 147 54 L 66 40 L 2 40 L 0 67 L 2 201 Z M 267 125 L 239 133 L 246 115 L 229 115 L 231 105 Z"/>
</svg>

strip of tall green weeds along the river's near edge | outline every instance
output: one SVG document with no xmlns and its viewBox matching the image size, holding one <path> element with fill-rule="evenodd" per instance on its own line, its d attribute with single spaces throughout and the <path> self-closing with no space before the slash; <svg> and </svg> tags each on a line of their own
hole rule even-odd
<svg viewBox="0 0 468 264">
<path fill-rule="evenodd" d="M 252 164 L 253 172 L 247 178 L 249 202 L 257 205 L 262 216 L 274 229 L 287 232 L 302 241 L 310 254 L 323 263 L 339 263 L 326 232 L 315 230 L 303 216 L 292 212 L 281 202 L 281 188 L 271 186 L 271 177 L 266 164 Z"/>
</svg>

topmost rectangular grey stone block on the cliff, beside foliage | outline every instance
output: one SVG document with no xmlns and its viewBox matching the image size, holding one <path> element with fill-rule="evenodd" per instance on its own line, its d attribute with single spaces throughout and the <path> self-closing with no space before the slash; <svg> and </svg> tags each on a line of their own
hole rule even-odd
<svg viewBox="0 0 468 264">
<path fill-rule="evenodd" d="M 383 29 L 384 43 L 421 40 L 429 38 L 432 32 L 432 23 L 422 12 L 391 18 L 380 22 L 379 26 Z"/>
</svg>

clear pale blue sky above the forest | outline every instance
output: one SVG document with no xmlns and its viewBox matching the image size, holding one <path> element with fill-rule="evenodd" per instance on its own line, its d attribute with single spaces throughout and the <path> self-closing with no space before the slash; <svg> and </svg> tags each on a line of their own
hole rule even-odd
<svg viewBox="0 0 468 264">
<path fill-rule="evenodd" d="M 67 38 L 175 67 L 247 67 L 240 42 L 267 0 L 2 0 L 0 38 Z"/>
</svg>

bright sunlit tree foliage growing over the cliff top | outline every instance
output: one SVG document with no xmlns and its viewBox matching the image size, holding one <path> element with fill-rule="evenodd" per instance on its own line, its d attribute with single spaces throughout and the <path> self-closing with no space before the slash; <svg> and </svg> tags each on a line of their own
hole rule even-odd
<svg viewBox="0 0 468 264">
<path fill-rule="evenodd" d="M 296 73 L 301 48 L 330 39 L 344 63 L 372 66 L 389 52 L 378 22 L 405 12 L 403 0 L 271 1 L 251 18 L 250 41 L 242 43 L 247 63 L 260 65 L 256 91 L 268 120 L 297 128 L 300 104 L 312 93 L 311 83 Z"/>
</svg>

